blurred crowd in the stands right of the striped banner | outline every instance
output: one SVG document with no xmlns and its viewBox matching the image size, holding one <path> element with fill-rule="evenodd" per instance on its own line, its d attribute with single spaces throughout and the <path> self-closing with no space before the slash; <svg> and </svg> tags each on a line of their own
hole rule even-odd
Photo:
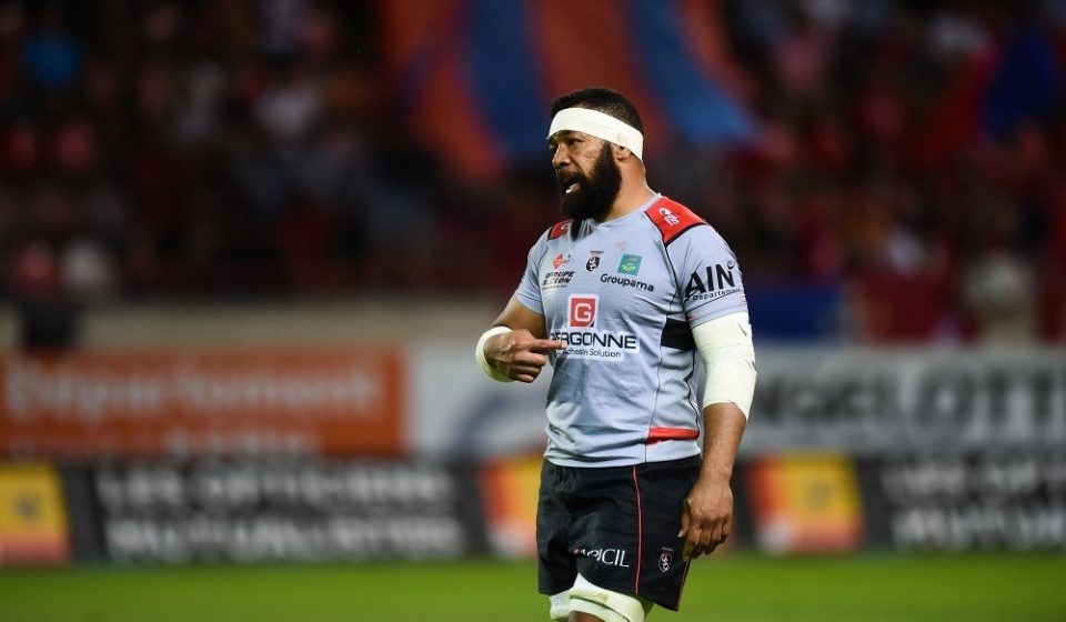
<svg viewBox="0 0 1066 622">
<path fill-rule="evenodd" d="M 1066 3 L 727 7 L 765 127 L 715 180 L 745 274 L 841 284 L 866 341 L 1066 338 Z"/>
</svg>

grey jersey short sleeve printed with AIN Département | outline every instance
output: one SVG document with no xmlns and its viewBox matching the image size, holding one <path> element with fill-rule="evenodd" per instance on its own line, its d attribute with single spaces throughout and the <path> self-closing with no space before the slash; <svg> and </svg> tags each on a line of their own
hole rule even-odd
<svg viewBox="0 0 1066 622">
<path fill-rule="evenodd" d="M 666 247 L 691 327 L 738 311 L 747 297 L 736 255 L 714 228 L 694 227 Z"/>
</svg>

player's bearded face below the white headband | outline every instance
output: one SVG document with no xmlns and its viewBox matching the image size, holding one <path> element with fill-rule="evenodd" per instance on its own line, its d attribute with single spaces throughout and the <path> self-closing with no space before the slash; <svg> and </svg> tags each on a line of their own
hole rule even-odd
<svg viewBox="0 0 1066 622">
<path fill-rule="evenodd" d="M 560 132 L 552 138 L 552 164 L 563 194 L 563 214 L 603 221 L 622 188 L 622 171 L 611 144 L 581 132 Z"/>
</svg>

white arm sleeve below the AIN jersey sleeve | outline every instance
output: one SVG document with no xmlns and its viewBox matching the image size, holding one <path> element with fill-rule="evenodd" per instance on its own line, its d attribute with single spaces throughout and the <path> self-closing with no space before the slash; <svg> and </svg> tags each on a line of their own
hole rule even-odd
<svg viewBox="0 0 1066 622">
<path fill-rule="evenodd" d="M 692 329 L 707 372 L 703 408 L 733 402 L 744 417 L 755 393 L 755 345 L 747 312 L 730 313 Z"/>
</svg>

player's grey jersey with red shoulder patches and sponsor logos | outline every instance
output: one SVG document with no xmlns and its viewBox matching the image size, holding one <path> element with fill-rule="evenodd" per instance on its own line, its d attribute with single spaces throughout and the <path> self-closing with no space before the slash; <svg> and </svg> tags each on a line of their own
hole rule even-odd
<svg viewBox="0 0 1066 622">
<path fill-rule="evenodd" d="M 545 457 L 615 466 L 700 453 L 692 327 L 747 310 L 735 255 L 661 195 L 573 227 L 537 240 L 515 292 L 566 343 L 550 355 Z"/>
</svg>

